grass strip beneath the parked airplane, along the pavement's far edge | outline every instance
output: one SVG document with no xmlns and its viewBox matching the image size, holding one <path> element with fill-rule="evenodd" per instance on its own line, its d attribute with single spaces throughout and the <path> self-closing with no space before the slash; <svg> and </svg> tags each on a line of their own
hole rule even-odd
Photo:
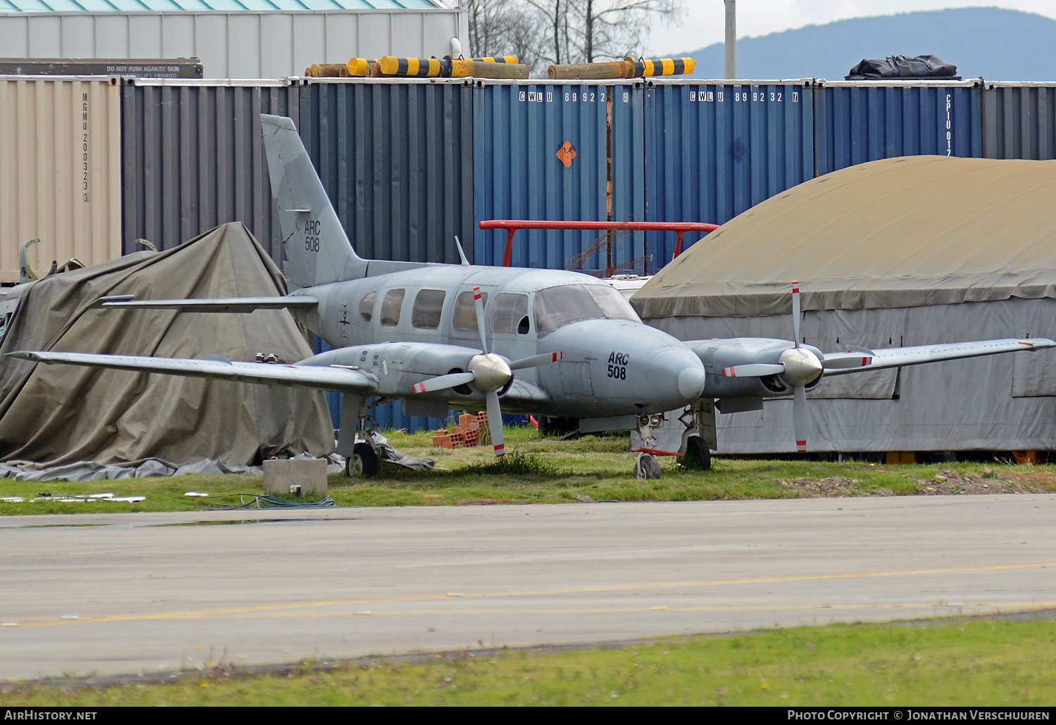
<svg viewBox="0 0 1056 725">
<path fill-rule="evenodd" d="M 711 471 L 683 469 L 673 457 L 660 459 L 660 480 L 636 480 L 627 437 L 586 436 L 576 440 L 542 437 L 534 428 L 506 430 L 507 454 L 496 459 L 490 446 L 436 449 L 431 433 L 386 432 L 401 452 L 436 458 L 434 471 L 382 465 L 373 479 L 343 473 L 328 477 L 338 505 L 437 505 L 576 501 L 681 501 L 816 496 L 890 496 L 973 493 L 1056 492 L 1056 466 L 998 463 L 884 465 L 861 461 L 714 459 Z M 191 498 L 188 491 L 206 492 Z M 240 494 L 259 494 L 262 477 L 250 474 L 187 475 L 166 478 L 44 483 L 0 479 L 0 515 L 190 511 L 238 505 Z M 39 492 L 51 498 L 35 499 Z M 59 494 L 146 495 L 139 503 L 62 503 Z"/>
</svg>

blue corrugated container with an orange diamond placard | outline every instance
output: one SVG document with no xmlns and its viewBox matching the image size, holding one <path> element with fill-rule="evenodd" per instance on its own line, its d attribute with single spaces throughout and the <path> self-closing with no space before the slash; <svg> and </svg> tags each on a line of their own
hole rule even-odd
<svg viewBox="0 0 1056 725">
<path fill-rule="evenodd" d="M 473 88 L 474 220 L 645 218 L 644 83 L 477 81 Z M 502 264 L 506 234 L 475 230 L 478 264 Z M 511 264 L 566 269 L 597 232 L 520 231 Z M 645 255 L 620 241 L 614 264 Z M 583 269 L 604 269 L 604 249 Z"/>
</svg>

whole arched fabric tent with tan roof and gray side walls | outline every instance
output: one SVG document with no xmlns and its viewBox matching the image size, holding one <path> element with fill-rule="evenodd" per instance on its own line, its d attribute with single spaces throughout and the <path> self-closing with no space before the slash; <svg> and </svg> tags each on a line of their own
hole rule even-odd
<svg viewBox="0 0 1056 725">
<path fill-rule="evenodd" d="M 790 189 L 665 267 L 631 303 L 681 340 L 791 339 L 823 350 L 1056 338 L 1056 161 L 921 156 Z M 1056 350 L 824 379 L 811 451 L 1056 450 Z M 718 416 L 722 453 L 792 445 L 790 400 Z"/>
</svg>

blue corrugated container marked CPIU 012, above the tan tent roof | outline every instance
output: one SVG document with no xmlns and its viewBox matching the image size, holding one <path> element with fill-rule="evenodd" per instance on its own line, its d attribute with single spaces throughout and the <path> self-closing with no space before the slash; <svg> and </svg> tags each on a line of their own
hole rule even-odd
<svg viewBox="0 0 1056 725">
<path fill-rule="evenodd" d="M 818 81 L 817 176 L 878 158 L 982 155 L 979 81 Z"/>
</svg>

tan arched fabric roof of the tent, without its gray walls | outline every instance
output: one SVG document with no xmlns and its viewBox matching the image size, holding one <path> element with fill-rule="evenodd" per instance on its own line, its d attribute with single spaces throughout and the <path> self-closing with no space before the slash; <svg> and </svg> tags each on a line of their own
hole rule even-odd
<svg viewBox="0 0 1056 725">
<path fill-rule="evenodd" d="M 1056 297 L 1056 161 L 904 156 L 740 214 L 635 294 L 645 318 Z M 807 284 L 809 282 L 809 284 Z"/>
</svg>

